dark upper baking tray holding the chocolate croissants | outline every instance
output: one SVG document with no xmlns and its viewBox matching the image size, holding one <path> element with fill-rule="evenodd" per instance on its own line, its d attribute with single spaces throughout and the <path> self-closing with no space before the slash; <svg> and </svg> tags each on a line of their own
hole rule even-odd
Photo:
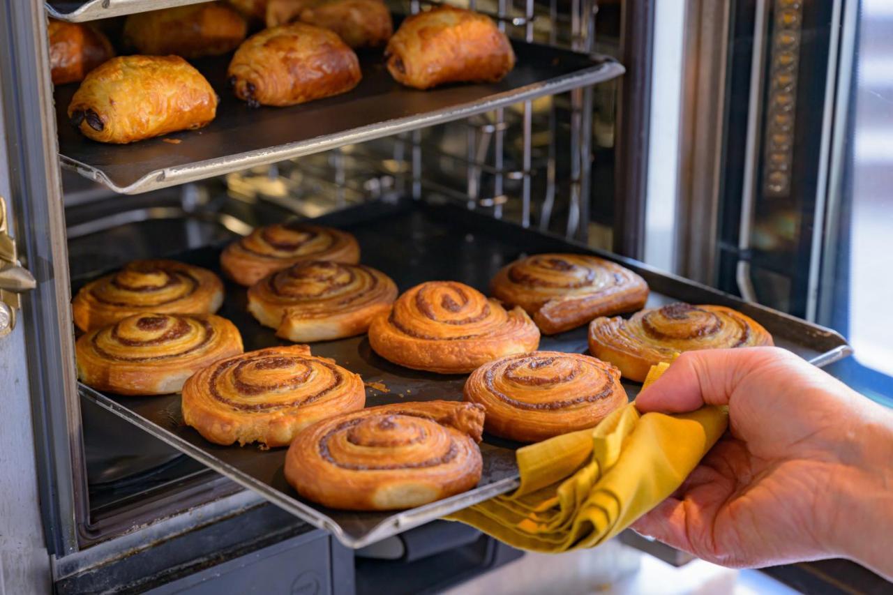
<svg viewBox="0 0 893 595">
<path fill-rule="evenodd" d="M 131 145 L 105 145 L 80 134 L 67 116 L 77 85 L 63 85 L 55 90 L 60 158 L 116 192 L 136 194 L 459 120 L 623 72 L 607 56 L 517 41 L 513 46 L 517 66 L 497 83 L 405 88 L 388 74 L 381 54 L 363 54 L 363 80 L 353 91 L 304 105 L 255 109 L 233 96 L 226 82 L 229 58 L 198 61 L 196 67 L 221 96 L 217 118 L 202 130 Z"/>
</svg>

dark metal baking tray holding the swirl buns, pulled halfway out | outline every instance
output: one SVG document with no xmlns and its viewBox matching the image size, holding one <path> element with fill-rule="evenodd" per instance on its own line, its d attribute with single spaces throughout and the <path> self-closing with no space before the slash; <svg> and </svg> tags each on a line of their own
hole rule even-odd
<svg viewBox="0 0 893 595">
<path fill-rule="evenodd" d="M 421 281 L 456 280 L 486 291 L 497 270 L 523 254 L 547 251 L 586 252 L 585 247 L 523 230 L 452 206 L 402 203 L 363 205 L 323 218 L 321 222 L 355 234 L 362 247 L 363 263 L 388 273 L 404 290 Z M 181 260 L 217 270 L 218 248 L 203 248 L 179 256 Z M 602 255 L 604 256 L 604 255 Z M 609 256 L 610 257 L 610 256 Z M 616 259 L 641 273 L 652 288 L 648 306 L 683 299 L 694 303 L 734 306 L 772 332 L 781 347 L 789 348 L 817 365 L 846 356 L 849 346 L 834 331 L 822 329 L 762 306 L 746 305 L 714 289 L 655 272 L 641 264 Z M 281 344 L 273 331 L 246 313 L 245 290 L 227 285 L 221 315 L 242 332 L 246 350 Z M 584 353 L 585 326 L 554 337 L 544 337 L 542 349 Z M 338 364 L 363 376 L 367 382 L 367 406 L 409 400 L 461 399 L 465 376 L 417 372 L 390 364 L 369 347 L 366 337 L 316 343 L 313 353 L 333 357 Z M 633 398 L 639 389 L 624 381 Z M 378 388 L 374 388 L 378 387 Z M 101 394 L 81 386 L 83 394 L 100 406 L 227 475 L 263 498 L 327 529 L 348 547 L 359 548 L 413 526 L 427 523 L 481 500 L 513 490 L 518 484 L 514 449 L 519 445 L 485 435 L 481 444 L 483 474 L 477 488 L 449 499 L 404 512 L 356 513 L 331 510 L 297 497 L 282 472 L 285 448 L 260 450 L 256 446 L 221 447 L 205 441 L 182 423 L 179 395 L 129 398 Z"/>
</svg>

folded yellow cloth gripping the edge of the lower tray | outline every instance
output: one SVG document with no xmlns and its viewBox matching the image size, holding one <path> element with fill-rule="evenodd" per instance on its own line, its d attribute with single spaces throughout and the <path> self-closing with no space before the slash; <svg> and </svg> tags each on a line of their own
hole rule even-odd
<svg viewBox="0 0 893 595">
<path fill-rule="evenodd" d="M 668 366 L 653 366 L 645 386 Z M 640 415 L 630 403 L 595 428 L 518 449 L 518 490 L 447 519 L 521 549 L 597 546 L 677 490 L 727 424 L 721 407 Z"/>
</svg>

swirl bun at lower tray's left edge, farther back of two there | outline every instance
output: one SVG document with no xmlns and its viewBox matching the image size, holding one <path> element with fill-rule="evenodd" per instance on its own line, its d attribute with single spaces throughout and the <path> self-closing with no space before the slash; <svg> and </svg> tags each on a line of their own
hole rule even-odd
<svg viewBox="0 0 893 595">
<path fill-rule="evenodd" d="M 80 289 L 71 303 L 74 323 L 93 331 L 133 314 L 212 314 L 223 303 L 213 272 L 173 260 L 136 260 Z"/>
</svg>

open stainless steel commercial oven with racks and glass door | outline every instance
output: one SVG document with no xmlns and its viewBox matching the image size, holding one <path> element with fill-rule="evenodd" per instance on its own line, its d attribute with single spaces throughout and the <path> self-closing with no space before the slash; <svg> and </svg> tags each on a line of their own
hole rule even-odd
<svg viewBox="0 0 893 595">
<path fill-rule="evenodd" d="M 293 217 L 351 230 L 400 289 L 435 277 L 486 289 L 522 254 L 592 251 L 645 276 L 654 303 L 737 306 L 816 365 L 850 354 L 825 327 L 849 328 L 840 253 L 853 233 L 864 3 L 456 2 L 513 38 L 518 66 L 502 82 L 410 92 L 363 55 L 354 93 L 249 112 L 220 90 L 225 63 L 208 60 L 198 67 L 221 95 L 212 126 L 121 147 L 80 137 L 65 116 L 76 86 L 50 82 L 47 16 L 114 30 L 126 14 L 195 2 L 0 2 L 0 585 L 10 592 L 438 591 L 522 555 L 436 520 L 513 488 L 511 444 L 485 444 L 485 481 L 462 498 L 338 514 L 279 485 L 281 453 L 203 446 L 179 423 L 176 396 L 79 385 L 72 291 L 137 258 L 213 268 L 227 242 Z M 391 8 L 399 18 L 430 4 Z M 227 313 L 248 333 L 234 303 Z M 550 340 L 585 345 L 579 331 Z M 270 341 L 255 332 L 246 344 Z M 418 385 L 362 339 L 320 349 L 362 362 L 371 404 Z M 843 366 L 865 378 L 860 361 Z M 864 390 L 882 398 L 884 382 Z M 461 381 L 429 390 L 461 394 Z M 774 574 L 801 588 L 876 580 L 828 564 Z"/>
</svg>

